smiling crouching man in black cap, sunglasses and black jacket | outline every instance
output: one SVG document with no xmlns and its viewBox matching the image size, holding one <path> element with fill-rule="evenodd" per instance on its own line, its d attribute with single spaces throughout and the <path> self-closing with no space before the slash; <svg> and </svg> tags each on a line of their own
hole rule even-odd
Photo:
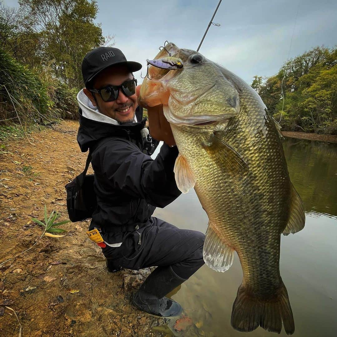
<svg viewBox="0 0 337 337">
<path fill-rule="evenodd" d="M 89 229 L 102 235 L 108 270 L 158 266 L 132 303 L 167 317 L 181 307 L 165 295 L 204 264 L 205 236 L 152 217 L 156 207 L 165 207 L 181 193 L 173 173 L 178 149 L 160 107 L 148 110 L 149 128 L 165 143 L 155 160 L 145 148 L 146 119 L 137 107 L 132 73 L 141 67 L 117 48 L 99 47 L 85 56 L 77 140 L 82 152 L 89 149 L 92 154 L 97 208 Z"/>
</svg>

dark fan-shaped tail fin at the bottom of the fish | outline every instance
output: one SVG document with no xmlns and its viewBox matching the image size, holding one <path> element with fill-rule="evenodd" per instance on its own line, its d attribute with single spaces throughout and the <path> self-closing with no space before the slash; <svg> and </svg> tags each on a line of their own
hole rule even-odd
<svg viewBox="0 0 337 337">
<path fill-rule="evenodd" d="M 281 282 L 277 295 L 268 300 L 253 297 L 240 285 L 233 304 L 231 324 L 241 332 L 250 332 L 258 326 L 270 332 L 280 333 L 282 321 L 287 335 L 295 331 L 292 308 L 288 293 Z"/>
</svg>

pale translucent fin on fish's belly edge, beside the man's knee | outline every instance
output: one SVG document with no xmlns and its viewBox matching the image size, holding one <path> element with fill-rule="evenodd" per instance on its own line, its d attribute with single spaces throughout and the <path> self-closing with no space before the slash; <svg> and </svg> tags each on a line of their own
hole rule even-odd
<svg viewBox="0 0 337 337">
<path fill-rule="evenodd" d="M 206 265 L 218 272 L 225 272 L 233 264 L 234 248 L 219 238 L 211 222 L 208 223 L 206 231 L 203 255 Z"/>
</svg>

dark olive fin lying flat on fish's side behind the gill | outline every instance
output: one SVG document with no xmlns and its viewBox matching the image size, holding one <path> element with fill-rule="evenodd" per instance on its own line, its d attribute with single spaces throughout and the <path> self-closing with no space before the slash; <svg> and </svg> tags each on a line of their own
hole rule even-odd
<svg viewBox="0 0 337 337">
<path fill-rule="evenodd" d="M 204 143 L 203 147 L 210 158 L 225 172 L 240 173 L 247 170 L 247 163 L 240 153 L 220 138 L 213 135 L 209 143 Z"/>
</svg>

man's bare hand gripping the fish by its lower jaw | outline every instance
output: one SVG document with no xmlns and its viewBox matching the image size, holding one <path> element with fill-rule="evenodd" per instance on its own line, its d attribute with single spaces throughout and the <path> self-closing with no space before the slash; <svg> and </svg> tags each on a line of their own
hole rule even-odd
<svg viewBox="0 0 337 337">
<path fill-rule="evenodd" d="M 137 86 L 136 88 L 137 97 L 139 97 L 140 90 L 141 85 Z M 163 106 L 147 106 L 146 109 L 148 111 L 149 129 L 151 137 L 153 137 L 157 141 L 164 141 L 169 146 L 176 145 L 170 123 L 167 122 L 164 116 Z"/>
</svg>

